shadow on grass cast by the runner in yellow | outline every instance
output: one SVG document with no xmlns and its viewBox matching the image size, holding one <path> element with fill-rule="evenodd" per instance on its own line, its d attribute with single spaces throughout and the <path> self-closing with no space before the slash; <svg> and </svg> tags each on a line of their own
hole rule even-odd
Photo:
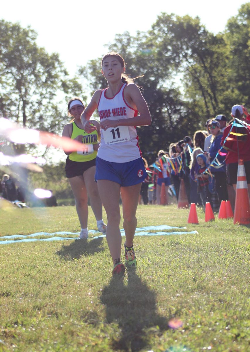
<svg viewBox="0 0 250 352">
<path fill-rule="evenodd" d="M 66 260 L 79 259 L 81 256 L 91 256 L 94 253 L 103 251 L 102 245 L 103 238 L 98 237 L 95 239 L 77 239 L 70 243 L 69 246 L 63 245 L 62 249 L 56 252 L 58 256 Z"/>
</svg>

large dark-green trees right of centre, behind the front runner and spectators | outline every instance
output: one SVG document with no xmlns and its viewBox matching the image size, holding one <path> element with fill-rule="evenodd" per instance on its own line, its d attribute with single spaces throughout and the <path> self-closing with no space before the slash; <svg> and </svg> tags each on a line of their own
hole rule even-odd
<svg viewBox="0 0 250 352">
<path fill-rule="evenodd" d="M 249 103 L 249 9 L 250 3 L 242 5 L 218 34 L 198 17 L 161 13 L 149 31 L 116 34 L 107 45 L 124 57 L 127 74 L 143 75 L 135 83 L 152 114 L 152 125 L 137 129 L 143 155 L 192 136 L 235 103 Z M 100 63 L 91 60 L 80 70 L 92 90 L 107 86 Z"/>
</svg>

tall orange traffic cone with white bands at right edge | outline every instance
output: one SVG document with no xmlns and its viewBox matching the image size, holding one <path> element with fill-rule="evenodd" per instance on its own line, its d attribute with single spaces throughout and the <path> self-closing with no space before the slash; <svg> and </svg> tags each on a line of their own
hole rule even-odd
<svg viewBox="0 0 250 352">
<path fill-rule="evenodd" d="M 250 224 L 250 200 L 248 195 L 248 184 L 243 160 L 239 159 L 235 198 L 235 215 L 233 223 L 242 225 Z"/>
</svg>

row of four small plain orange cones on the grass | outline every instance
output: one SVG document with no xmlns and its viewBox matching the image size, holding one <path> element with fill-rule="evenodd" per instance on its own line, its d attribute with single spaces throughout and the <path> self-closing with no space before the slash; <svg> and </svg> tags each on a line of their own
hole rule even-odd
<svg viewBox="0 0 250 352">
<path fill-rule="evenodd" d="M 227 201 L 223 200 L 220 204 L 218 219 L 229 219 L 229 218 L 233 218 L 232 207 L 229 200 Z M 209 202 L 206 202 L 205 222 L 213 221 L 213 220 L 214 220 L 213 209 L 211 207 L 211 204 Z M 188 224 L 199 224 L 195 203 L 191 203 L 187 222 Z"/>
</svg>

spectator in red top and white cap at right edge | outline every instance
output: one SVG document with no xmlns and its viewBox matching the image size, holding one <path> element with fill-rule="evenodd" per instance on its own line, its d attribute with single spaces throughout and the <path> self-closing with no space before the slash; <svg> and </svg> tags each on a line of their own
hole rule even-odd
<svg viewBox="0 0 250 352">
<path fill-rule="evenodd" d="M 244 114 L 249 117 L 247 110 L 241 105 L 233 105 L 231 115 L 235 119 L 243 120 L 249 123 L 244 118 Z M 221 145 L 224 144 L 224 149 L 227 150 L 226 155 L 226 173 L 229 178 L 229 183 L 233 185 L 236 191 L 238 160 L 242 159 L 245 166 L 246 182 L 248 183 L 248 194 L 250 197 L 250 133 L 245 127 L 233 126 L 230 138 L 227 138 L 231 129 L 231 125 L 224 130 Z"/>
</svg>

